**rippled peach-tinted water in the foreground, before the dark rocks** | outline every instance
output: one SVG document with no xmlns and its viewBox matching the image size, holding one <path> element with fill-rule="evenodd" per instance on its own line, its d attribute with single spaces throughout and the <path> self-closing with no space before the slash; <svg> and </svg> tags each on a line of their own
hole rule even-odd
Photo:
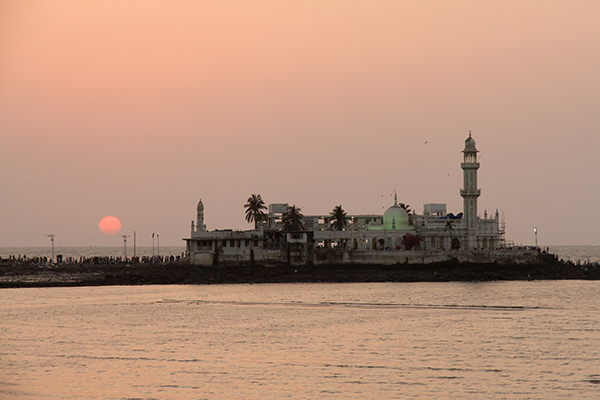
<svg viewBox="0 0 600 400">
<path fill-rule="evenodd" d="M 2 399 L 597 399 L 600 282 L 0 291 Z"/>
</svg>

